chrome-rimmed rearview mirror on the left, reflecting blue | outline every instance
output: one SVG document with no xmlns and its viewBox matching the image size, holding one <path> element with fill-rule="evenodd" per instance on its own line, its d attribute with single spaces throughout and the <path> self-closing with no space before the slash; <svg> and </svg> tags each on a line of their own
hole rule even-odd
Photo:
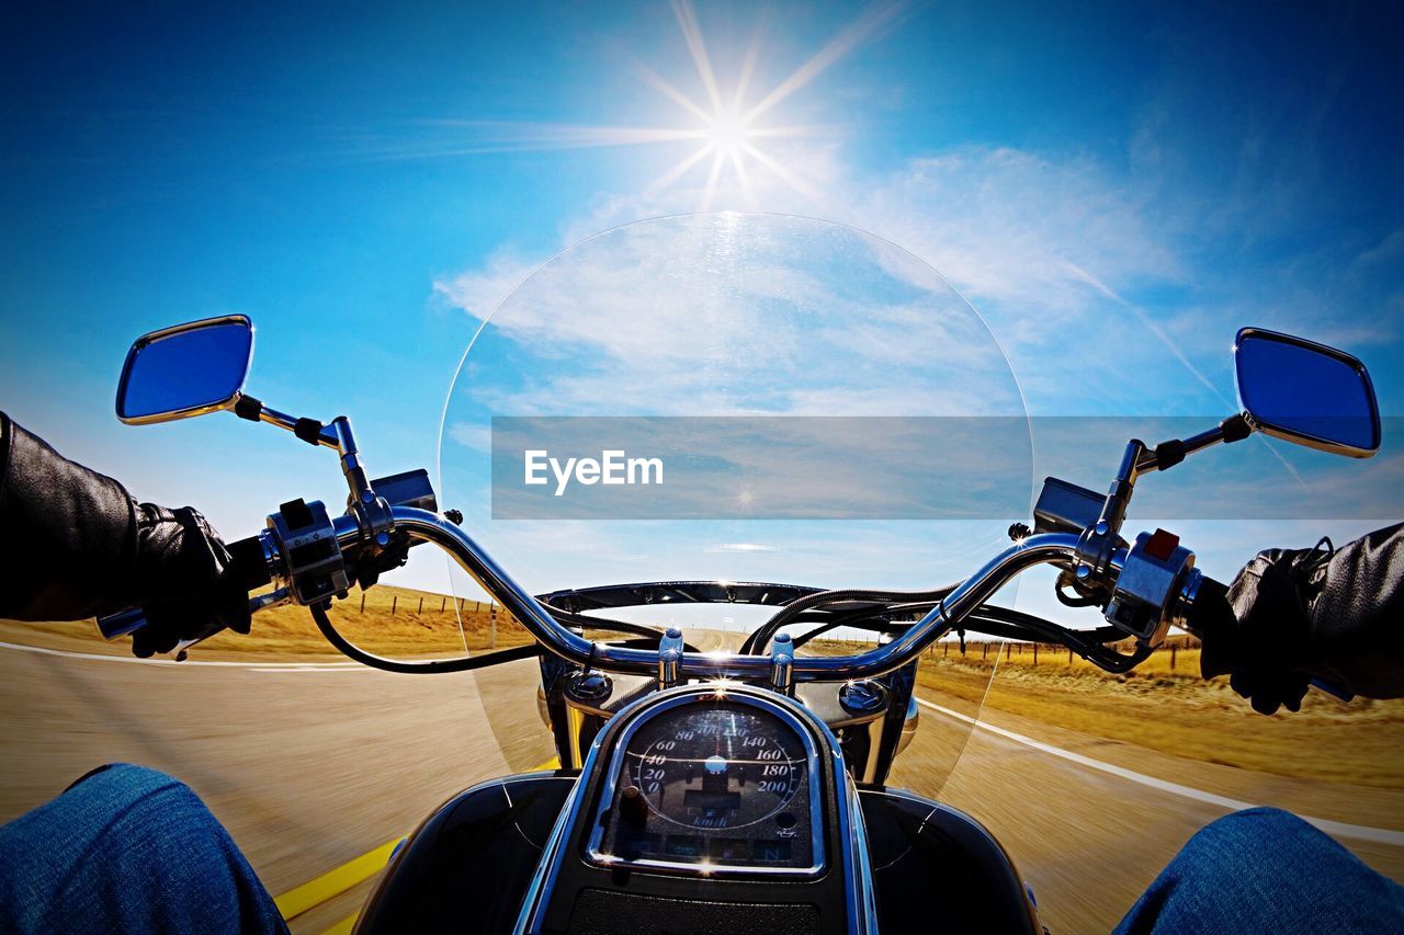
<svg viewBox="0 0 1404 935">
<path fill-rule="evenodd" d="M 232 409 L 253 352 L 254 327 L 243 314 L 143 334 L 122 366 L 117 417 L 143 425 Z"/>
</svg>

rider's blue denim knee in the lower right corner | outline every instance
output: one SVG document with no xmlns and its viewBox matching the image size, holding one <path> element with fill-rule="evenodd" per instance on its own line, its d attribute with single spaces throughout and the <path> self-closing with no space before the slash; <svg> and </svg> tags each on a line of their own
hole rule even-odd
<svg viewBox="0 0 1404 935">
<path fill-rule="evenodd" d="M 1404 932 L 1404 887 L 1294 814 L 1248 809 L 1189 838 L 1116 931 Z"/>
</svg>

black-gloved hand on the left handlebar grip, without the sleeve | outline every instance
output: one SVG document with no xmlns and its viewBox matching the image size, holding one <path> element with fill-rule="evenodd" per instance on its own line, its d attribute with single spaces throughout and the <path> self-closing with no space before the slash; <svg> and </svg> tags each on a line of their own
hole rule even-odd
<svg viewBox="0 0 1404 935">
<path fill-rule="evenodd" d="M 229 550 L 198 511 L 138 504 L 133 573 L 147 625 L 132 636 L 132 653 L 168 653 L 225 628 L 247 633 L 249 592 L 229 571 Z"/>
</svg>

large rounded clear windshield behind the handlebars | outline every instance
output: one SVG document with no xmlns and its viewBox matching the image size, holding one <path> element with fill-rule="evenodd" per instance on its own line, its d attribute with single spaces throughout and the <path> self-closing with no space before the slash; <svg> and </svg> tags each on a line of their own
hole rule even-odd
<svg viewBox="0 0 1404 935">
<path fill-rule="evenodd" d="M 468 348 L 439 469 L 441 504 L 535 594 L 931 590 L 1002 548 L 1032 490 L 1015 376 L 939 274 L 852 227 L 740 213 L 628 225 L 532 272 Z M 468 580 L 455 592 L 489 608 Z M 600 614 L 680 626 L 699 650 L 739 647 L 778 611 L 642 599 Z M 521 639 L 510 622 L 494 632 L 497 646 Z M 803 651 L 875 639 L 840 628 Z M 998 653 L 976 644 L 962 658 L 952 642 L 928 656 L 918 695 L 936 706 L 921 709 L 907 757 L 934 792 Z M 507 695 L 529 689 L 531 671 L 511 668 L 479 688 L 508 762 L 528 768 L 549 736 L 526 737 L 531 699 Z"/>
</svg>

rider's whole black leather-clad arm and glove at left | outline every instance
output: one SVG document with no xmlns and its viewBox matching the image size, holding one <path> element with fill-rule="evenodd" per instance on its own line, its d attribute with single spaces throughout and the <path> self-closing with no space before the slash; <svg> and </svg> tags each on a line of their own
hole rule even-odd
<svg viewBox="0 0 1404 935">
<path fill-rule="evenodd" d="M 138 656 L 229 626 L 249 632 L 249 594 L 229 552 L 191 508 L 138 504 L 122 484 L 59 455 L 0 413 L 0 616 L 80 621 L 143 606 Z"/>
</svg>

